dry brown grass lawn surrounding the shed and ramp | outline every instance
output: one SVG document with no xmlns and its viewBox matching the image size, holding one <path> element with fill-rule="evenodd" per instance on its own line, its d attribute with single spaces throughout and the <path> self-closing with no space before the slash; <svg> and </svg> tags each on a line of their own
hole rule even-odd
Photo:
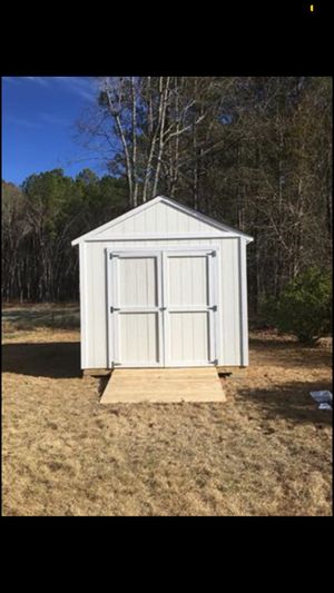
<svg viewBox="0 0 334 593">
<path fill-rule="evenodd" d="M 8 334 L 4 515 L 331 515 L 331 347 L 253 334 L 226 404 L 100 406 L 77 330 Z"/>
</svg>

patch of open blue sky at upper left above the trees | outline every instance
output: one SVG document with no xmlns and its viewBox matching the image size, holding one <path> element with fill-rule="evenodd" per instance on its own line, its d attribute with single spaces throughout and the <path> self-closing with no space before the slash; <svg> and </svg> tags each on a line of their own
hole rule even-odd
<svg viewBox="0 0 334 593">
<path fill-rule="evenodd" d="M 2 179 L 20 185 L 55 168 L 106 172 L 73 141 L 75 121 L 96 95 L 91 77 L 2 77 Z"/>
</svg>

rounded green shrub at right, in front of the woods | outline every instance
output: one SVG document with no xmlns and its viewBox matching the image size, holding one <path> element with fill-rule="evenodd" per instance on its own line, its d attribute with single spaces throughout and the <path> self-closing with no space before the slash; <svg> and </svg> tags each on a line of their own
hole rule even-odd
<svg viewBox="0 0 334 593">
<path fill-rule="evenodd" d="M 294 334 L 303 344 L 316 344 L 332 330 L 331 274 L 308 268 L 288 283 L 278 300 L 268 299 L 265 308 L 279 333 Z"/>
</svg>

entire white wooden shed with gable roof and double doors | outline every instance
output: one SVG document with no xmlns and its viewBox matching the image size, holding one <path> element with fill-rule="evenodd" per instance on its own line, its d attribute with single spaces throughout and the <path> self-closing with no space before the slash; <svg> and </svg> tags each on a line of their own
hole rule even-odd
<svg viewBox="0 0 334 593">
<path fill-rule="evenodd" d="M 75 239 L 81 368 L 247 366 L 252 240 L 165 196 Z"/>
</svg>

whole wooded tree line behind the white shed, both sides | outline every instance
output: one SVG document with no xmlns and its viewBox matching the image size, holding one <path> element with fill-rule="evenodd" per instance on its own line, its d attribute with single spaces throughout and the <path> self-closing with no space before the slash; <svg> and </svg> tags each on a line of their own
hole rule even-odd
<svg viewBox="0 0 334 593">
<path fill-rule="evenodd" d="M 253 235 L 249 305 L 332 263 L 332 80 L 105 77 L 77 140 L 98 178 L 2 184 L 2 297 L 78 298 L 70 240 L 157 194 Z"/>
</svg>

